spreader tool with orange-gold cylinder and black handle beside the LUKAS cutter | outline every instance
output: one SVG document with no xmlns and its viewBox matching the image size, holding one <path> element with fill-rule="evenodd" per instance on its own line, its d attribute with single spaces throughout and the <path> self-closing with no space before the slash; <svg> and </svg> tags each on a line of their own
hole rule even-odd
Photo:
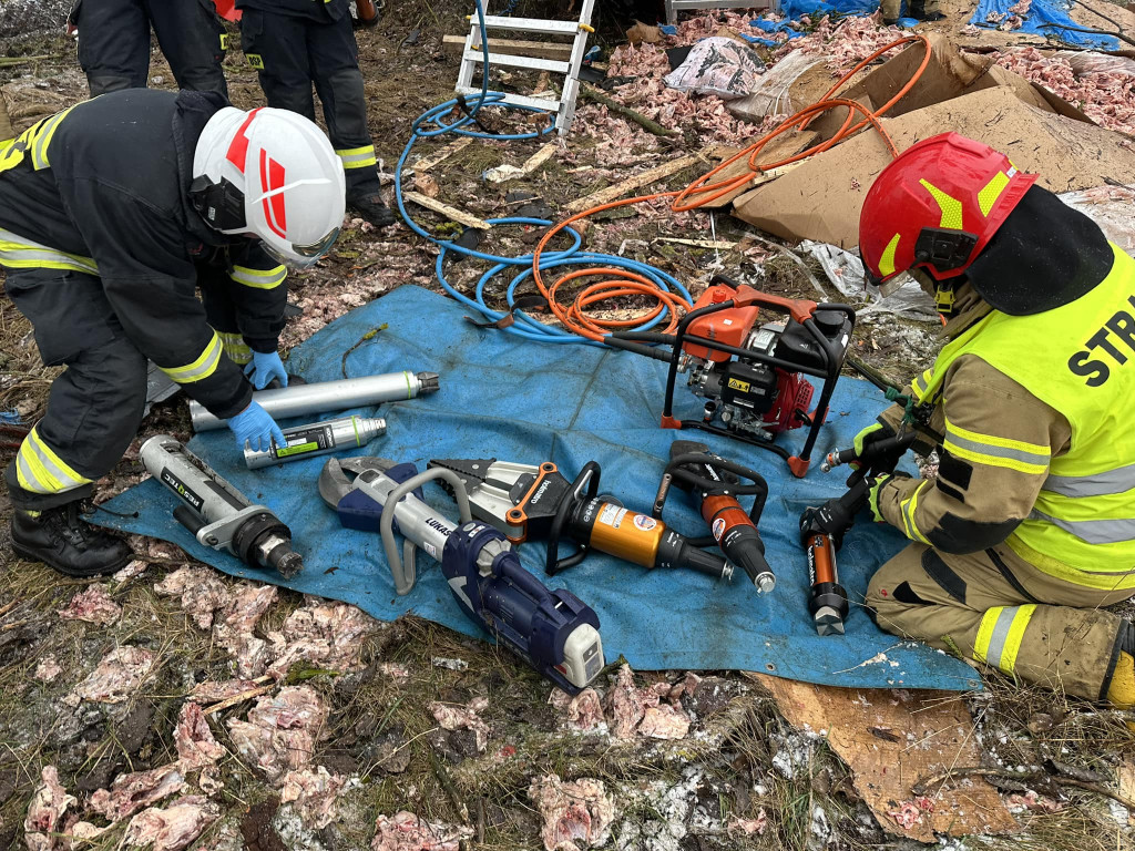
<svg viewBox="0 0 1135 851">
<path fill-rule="evenodd" d="M 547 538 L 545 571 L 549 576 L 574 567 L 591 548 L 647 568 L 687 567 L 726 581 L 733 575 L 729 562 L 692 546 L 661 520 L 598 496 L 600 470 L 594 461 L 572 482 L 552 462 L 435 458 L 429 466 L 456 473 L 473 516 L 495 525 L 513 544 Z M 564 534 L 579 549 L 560 558 Z"/>
</svg>

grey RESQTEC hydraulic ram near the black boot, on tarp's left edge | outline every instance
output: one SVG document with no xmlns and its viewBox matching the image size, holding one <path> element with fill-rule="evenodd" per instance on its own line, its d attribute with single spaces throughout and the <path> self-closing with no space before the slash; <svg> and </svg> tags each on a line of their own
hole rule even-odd
<svg viewBox="0 0 1135 851">
<path fill-rule="evenodd" d="M 174 508 L 174 517 L 197 541 L 230 553 L 250 567 L 275 570 L 285 579 L 303 570 L 303 558 L 292 549 L 292 530 L 176 439 L 155 435 L 142 444 L 138 454 L 146 472 L 184 503 Z"/>
</svg>

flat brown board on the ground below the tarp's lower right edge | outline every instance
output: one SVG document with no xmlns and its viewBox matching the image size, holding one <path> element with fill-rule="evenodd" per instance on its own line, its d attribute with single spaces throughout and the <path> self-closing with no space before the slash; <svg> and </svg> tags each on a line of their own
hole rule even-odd
<svg viewBox="0 0 1135 851">
<path fill-rule="evenodd" d="M 856 790 L 888 833 L 934 842 L 1017 829 L 997 790 L 961 776 L 916 795 L 926 777 L 982 762 L 974 721 L 961 696 L 942 691 L 836 689 L 747 674 L 764 685 L 796 727 L 827 731 L 827 744 L 851 768 Z"/>
</svg>

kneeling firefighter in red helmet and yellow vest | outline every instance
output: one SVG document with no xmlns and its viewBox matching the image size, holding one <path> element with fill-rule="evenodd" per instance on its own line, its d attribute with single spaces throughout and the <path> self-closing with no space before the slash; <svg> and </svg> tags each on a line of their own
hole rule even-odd
<svg viewBox="0 0 1135 851">
<path fill-rule="evenodd" d="M 913 542 L 866 603 L 889 632 L 1130 707 L 1135 630 L 1102 607 L 1135 595 L 1135 260 L 1035 180 L 948 133 L 867 193 L 864 264 L 934 292 L 949 342 L 911 382 L 939 474 L 875 481 L 874 519 Z"/>
</svg>

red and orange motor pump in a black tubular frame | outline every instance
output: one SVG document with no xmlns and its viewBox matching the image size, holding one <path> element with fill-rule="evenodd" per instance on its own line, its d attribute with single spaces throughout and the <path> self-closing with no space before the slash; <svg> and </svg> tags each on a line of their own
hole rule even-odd
<svg viewBox="0 0 1135 851">
<path fill-rule="evenodd" d="M 762 307 L 787 319 L 757 325 Z M 717 275 L 674 334 L 616 331 L 604 342 L 670 364 L 663 428 L 698 428 L 745 440 L 776 453 L 802 478 L 854 327 L 855 310 L 846 304 L 767 295 Z M 687 373 L 690 389 L 706 399 L 700 420 L 674 416 L 679 372 Z M 805 376 L 823 379 L 812 413 L 815 388 Z M 780 432 L 801 426 L 809 428 L 799 455 L 773 443 Z"/>
</svg>

